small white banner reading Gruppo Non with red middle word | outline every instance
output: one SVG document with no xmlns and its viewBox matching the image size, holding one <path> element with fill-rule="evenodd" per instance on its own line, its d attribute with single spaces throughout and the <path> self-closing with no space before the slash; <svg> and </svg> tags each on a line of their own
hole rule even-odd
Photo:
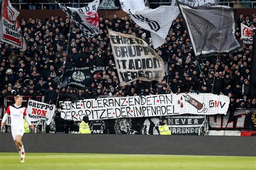
<svg viewBox="0 0 256 170">
<path fill-rule="evenodd" d="M 43 119 L 46 124 L 49 125 L 55 112 L 55 105 L 29 100 L 26 112 L 28 113 L 31 122 Z"/>
</svg>

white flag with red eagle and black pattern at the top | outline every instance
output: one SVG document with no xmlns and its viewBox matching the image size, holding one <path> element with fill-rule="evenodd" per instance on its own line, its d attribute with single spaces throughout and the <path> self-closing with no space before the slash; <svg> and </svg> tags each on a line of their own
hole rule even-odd
<svg viewBox="0 0 256 170">
<path fill-rule="evenodd" d="M 72 22 L 79 26 L 86 38 L 95 37 L 99 33 L 98 6 L 99 0 L 93 1 L 83 8 L 71 8 L 59 4 L 59 8 L 71 17 Z"/>
</svg>

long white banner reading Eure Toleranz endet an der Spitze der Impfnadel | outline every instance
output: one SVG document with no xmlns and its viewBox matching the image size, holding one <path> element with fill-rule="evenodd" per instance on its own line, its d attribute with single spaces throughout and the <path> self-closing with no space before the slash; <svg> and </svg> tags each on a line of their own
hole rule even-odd
<svg viewBox="0 0 256 170">
<path fill-rule="evenodd" d="M 82 121 L 123 117 L 175 116 L 183 114 L 226 114 L 230 98 L 213 94 L 166 94 L 132 97 L 111 97 L 76 102 L 59 102 L 61 117 Z"/>
</svg>

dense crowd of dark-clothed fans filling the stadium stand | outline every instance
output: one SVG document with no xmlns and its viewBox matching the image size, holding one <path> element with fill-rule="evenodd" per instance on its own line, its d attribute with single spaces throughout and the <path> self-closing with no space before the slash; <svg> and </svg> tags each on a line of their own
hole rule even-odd
<svg viewBox="0 0 256 170">
<path fill-rule="evenodd" d="M 130 86 L 120 87 L 107 29 L 133 34 L 151 46 L 153 42 L 150 33 L 128 17 L 100 17 L 99 22 L 98 36 L 86 39 L 69 17 L 52 16 L 45 20 L 22 18 L 26 51 L 19 51 L 9 44 L 1 44 L 1 98 L 12 95 L 13 89 L 22 96 L 45 96 L 46 103 L 56 103 L 58 93 L 60 101 L 106 95 L 213 93 L 229 96 L 230 110 L 256 108 L 256 100 L 249 98 L 252 45 L 242 44 L 238 51 L 220 55 L 218 60 L 217 56 L 196 60 L 184 21 L 179 17 L 173 21 L 165 44 L 156 48 L 158 55 L 168 63 L 164 80 L 152 83 L 137 81 Z M 240 23 L 256 26 L 256 15 L 240 15 L 235 33 L 238 40 Z M 102 66 L 105 71 L 93 75 L 89 87 L 60 87 L 60 81 L 66 80 L 71 67 L 84 66 Z"/>
</svg>

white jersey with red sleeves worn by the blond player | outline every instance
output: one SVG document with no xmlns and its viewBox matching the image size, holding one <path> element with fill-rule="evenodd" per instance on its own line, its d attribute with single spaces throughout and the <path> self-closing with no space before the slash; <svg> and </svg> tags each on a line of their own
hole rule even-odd
<svg viewBox="0 0 256 170">
<path fill-rule="evenodd" d="M 6 110 L 6 114 L 11 116 L 12 128 L 24 126 L 23 116 L 26 116 L 26 108 L 24 106 L 21 105 L 17 108 L 14 104 L 12 104 Z"/>
</svg>

